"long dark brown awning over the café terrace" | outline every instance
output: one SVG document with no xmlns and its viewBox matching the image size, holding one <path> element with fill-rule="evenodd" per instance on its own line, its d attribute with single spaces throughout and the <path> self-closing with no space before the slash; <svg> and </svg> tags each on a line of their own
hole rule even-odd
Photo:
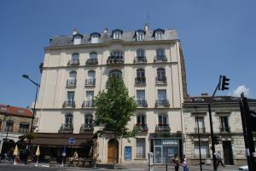
<svg viewBox="0 0 256 171">
<path fill-rule="evenodd" d="M 92 141 L 93 134 L 52 134 L 52 133 L 36 133 L 36 139 L 31 140 L 32 145 L 70 145 L 68 140 L 75 140 L 73 146 L 87 145 Z M 28 140 L 26 140 L 26 143 Z"/>
</svg>

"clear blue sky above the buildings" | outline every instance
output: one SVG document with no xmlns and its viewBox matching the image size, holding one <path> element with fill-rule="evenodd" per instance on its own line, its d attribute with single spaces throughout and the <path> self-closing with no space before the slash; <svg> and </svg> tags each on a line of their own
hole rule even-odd
<svg viewBox="0 0 256 171">
<path fill-rule="evenodd" d="M 26 107 L 36 88 L 21 77 L 40 82 L 38 66 L 49 38 L 119 28 L 177 29 L 183 43 L 190 95 L 212 94 L 219 75 L 230 78 L 230 89 L 256 98 L 256 3 L 241 0 L 1 0 L 0 103 Z M 237 93 L 237 92 L 235 92 Z"/>
</svg>

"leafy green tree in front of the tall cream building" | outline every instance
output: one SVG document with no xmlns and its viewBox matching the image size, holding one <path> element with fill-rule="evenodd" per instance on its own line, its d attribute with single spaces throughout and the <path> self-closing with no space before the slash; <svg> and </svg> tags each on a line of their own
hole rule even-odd
<svg viewBox="0 0 256 171">
<path fill-rule="evenodd" d="M 137 104 L 133 97 L 129 97 L 128 89 L 123 80 L 117 77 L 109 77 L 107 90 L 99 92 L 95 97 L 96 124 L 104 124 L 97 134 L 102 136 L 106 131 L 113 132 L 114 139 L 117 137 L 134 137 L 136 129 L 129 130 L 126 125 L 131 121 Z M 115 154 L 115 150 L 114 150 Z M 114 163 L 116 159 L 114 159 Z"/>
</svg>

